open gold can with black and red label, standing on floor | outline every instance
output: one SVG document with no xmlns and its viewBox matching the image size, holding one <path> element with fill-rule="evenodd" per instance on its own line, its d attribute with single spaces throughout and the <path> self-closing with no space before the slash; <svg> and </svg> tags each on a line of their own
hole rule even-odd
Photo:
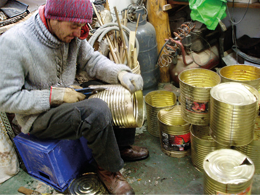
<svg viewBox="0 0 260 195">
<path fill-rule="evenodd" d="M 182 158 L 191 153 L 190 123 L 181 117 L 180 106 L 158 112 L 161 150 L 170 157 Z"/>
</svg>

